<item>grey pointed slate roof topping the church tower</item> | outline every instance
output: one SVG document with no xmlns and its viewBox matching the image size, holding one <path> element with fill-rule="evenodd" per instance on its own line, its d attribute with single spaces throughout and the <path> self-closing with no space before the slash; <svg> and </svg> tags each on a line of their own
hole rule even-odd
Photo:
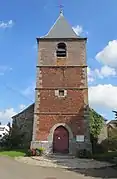
<svg viewBox="0 0 117 179">
<path fill-rule="evenodd" d="M 78 38 L 78 36 L 61 12 L 48 34 L 41 38 Z"/>
</svg>

